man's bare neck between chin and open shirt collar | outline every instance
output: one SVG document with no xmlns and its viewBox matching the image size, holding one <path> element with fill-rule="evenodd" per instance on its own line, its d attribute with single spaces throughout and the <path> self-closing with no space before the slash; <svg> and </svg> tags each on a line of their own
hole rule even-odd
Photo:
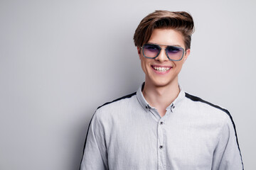
<svg viewBox="0 0 256 170">
<path fill-rule="evenodd" d="M 177 98 L 179 91 L 178 80 L 166 86 L 155 86 L 145 82 L 142 94 L 149 105 L 156 108 L 163 116 L 166 108 Z"/>
</svg>

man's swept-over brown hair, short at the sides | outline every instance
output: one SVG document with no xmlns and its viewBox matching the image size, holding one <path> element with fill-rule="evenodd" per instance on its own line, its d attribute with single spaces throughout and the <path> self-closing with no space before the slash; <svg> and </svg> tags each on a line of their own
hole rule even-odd
<svg viewBox="0 0 256 170">
<path fill-rule="evenodd" d="M 183 11 L 154 11 L 142 19 L 134 33 L 135 46 L 142 47 L 148 42 L 155 28 L 170 28 L 183 35 L 185 50 L 191 47 L 191 35 L 194 31 L 192 16 Z"/>
</svg>

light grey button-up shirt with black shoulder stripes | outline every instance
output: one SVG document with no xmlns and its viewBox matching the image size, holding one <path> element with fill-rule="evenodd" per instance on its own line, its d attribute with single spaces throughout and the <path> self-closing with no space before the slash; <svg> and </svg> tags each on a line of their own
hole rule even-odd
<svg viewBox="0 0 256 170">
<path fill-rule="evenodd" d="M 161 117 L 146 102 L 142 86 L 97 108 L 81 170 L 243 169 L 227 110 L 181 90 Z"/>
</svg>

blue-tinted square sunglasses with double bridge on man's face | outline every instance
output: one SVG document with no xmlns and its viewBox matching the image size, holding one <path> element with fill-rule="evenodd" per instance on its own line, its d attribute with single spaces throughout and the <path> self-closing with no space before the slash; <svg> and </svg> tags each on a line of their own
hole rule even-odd
<svg viewBox="0 0 256 170">
<path fill-rule="evenodd" d="M 171 61 L 180 61 L 184 55 L 183 47 L 176 47 L 172 45 L 167 45 L 166 48 L 161 48 L 160 45 L 156 44 L 144 44 L 141 48 L 144 57 L 151 59 L 159 56 L 162 49 L 166 51 L 166 56 Z"/>
</svg>

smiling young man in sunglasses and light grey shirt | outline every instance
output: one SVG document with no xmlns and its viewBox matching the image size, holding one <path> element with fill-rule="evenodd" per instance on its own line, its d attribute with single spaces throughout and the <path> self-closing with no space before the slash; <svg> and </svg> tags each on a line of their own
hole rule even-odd
<svg viewBox="0 0 256 170">
<path fill-rule="evenodd" d="M 134 33 L 145 82 L 134 94 L 97 108 L 81 169 L 243 169 L 227 110 L 178 85 L 190 54 L 193 18 L 155 11 Z"/>
</svg>

